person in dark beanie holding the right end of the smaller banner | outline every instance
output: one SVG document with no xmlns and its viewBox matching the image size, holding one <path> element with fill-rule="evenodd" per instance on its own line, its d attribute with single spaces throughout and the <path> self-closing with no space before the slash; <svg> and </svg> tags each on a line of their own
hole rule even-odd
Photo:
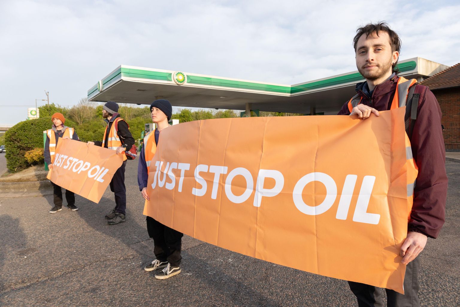
<svg viewBox="0 0 460 307">
<path fill-rule="evenodd" d="M 116 151 L 117 155 L 123 155 L 123 163 L 116 170 L 110 181 L 110 191 L 115 193 L 115 208 L 105 216 L 109 225 L 115 225 L 126 221 L 125 167 L 127 157 L 124 151 L 129 150 L 135 141 L 131 132 L 129 132 L 128 124 L 118 114 L 118 104 L 116 102 L 108 101 L 104 104 L 102 117 L 107 122 L 102 142 L 88 142 L 88 146 L 102 146 Z M 118 133 L 116 130 L 118 130 Z"/>
</svg>

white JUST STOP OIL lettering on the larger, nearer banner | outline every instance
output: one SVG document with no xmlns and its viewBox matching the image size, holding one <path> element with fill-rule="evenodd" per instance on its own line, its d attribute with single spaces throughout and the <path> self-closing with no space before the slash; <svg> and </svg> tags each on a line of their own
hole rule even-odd
<svg viewBox="0 0 460 307">
<path fill-rule="evenodd" d="M 71 159 L 71 158 L 70 158 Z M 69 160 L 70 160 L 69 159 Z M 190 163 L 179 163 L 179 162 L 167 162 L 165 169 L 162 171 L 161 167 L 163 161 L 155 162 L 155 174 L 153 177 L 152 188 L 155 189 L 156 182 L 158 180 L 158 187 L 161 188 L 165 186 L 168 190 L 173 190 L 176 186 L 176 177 L 173 173 L 173 169 L 180 169 L 180 178 L 178 183 L 178 191 L 182 192 L 182 186 L 184 181 L 184 175 L 186 170 L 190 170 Z M 83 168 L 83 167 L 82 167 Z M 94 168 L 94 167 L 93 167 Z M 92 169 L 93 169 L 92 168 Z M 88 176 L 92 175 L 92 169 L 88 172 Z M 219 165 L 206 165 L 199 164 L 194 170 L 194 177 L 197 185 L 201 185 L 201 188 L 193 187 L 192 194 L 196 196 L 205 196 L 207 192 L 207 181 L 202 177 L 200 173 L 209 173 L 214 174 L 213 176 L 213 188 L 211 191 L 211 199 L 217 199 L 217 192 L 219 190 L 219 184 L 223 184 L 223 175 L 227 174 L 228 167 L 219 166 Z M 104 174 L 107 170 L 104 172 Z M 99 172 L 100 173 L 100 172 Z M 163 179 L 161 180 L 161 173 L 163 173 Z M 172 180 L 171 182 L 166 182 L 166 176 Z M 246 180 L 246 188 L 243 193 L 239 196 L 233 194 L 232 181 L 236 176 L 243 176 Z M 90 178 L 91 178 L 90 177 Z M 342 193 L 340 194 L 340 200 L 337 208 L 336 219 L 346 220 L 348 217 L 348 211 L 350 209 L 351 198 L 353 196 L 353 191 L 355 190 L 357 175 L 349 174 L 345 178 L 345 182 L 342 188 Z M 271 178 L 275 181 L 275 185 L 271 188 L 265 187 L 265 179 Z M 355 212 L 353 214 L 353 221 L 367 224 L 379 224 L 380 214 L 368 213 L 368 205 L 371 197 L 371 193 L 375 183 L 375 176 L 364 176 L 362 180 L 361 189 L 358 194 L 357 204 Z M 326 187 L 326 197 L 319 205 L 313 203 L 307 204 L 302 198 L 302 193 L 305 189 L 305 186 L 311 182 L 319 182 Z M 244 203 L 251 197 L 254 193 L 253 206 L 260 207 L 263 197 L 275 197 L 281 193 L 284 187 L 284 176 L 283 174 L 275 169 L 259 169 L 259 174 L 257 175 L 256 184 L 254 188 L 254 179 L 246 168 L 234 168 L 225 178 L 224 191 L 225 196 L 232 203 Z M 292 191 L 293 203 L 295 207 L 302 213 L 307 215 L 318 215 L 323 214 L 334 205 L 337 199 L 337 185 L 334 179 L 328 174 L 321 172 L 314 172 L 306 174 L 300 178 L 294 186 Z"/>
</svg>

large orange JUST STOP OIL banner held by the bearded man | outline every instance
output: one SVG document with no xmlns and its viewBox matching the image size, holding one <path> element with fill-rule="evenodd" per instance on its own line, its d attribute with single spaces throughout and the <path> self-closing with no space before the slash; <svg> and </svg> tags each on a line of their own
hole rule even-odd
<svg viewBox="0 0 460 307">
<path fill-rule="evenodd" d="M 144 214 L 265 261 L 403 293 L 404 110 L 212 119 L 161 132 Z"/>
</svg>

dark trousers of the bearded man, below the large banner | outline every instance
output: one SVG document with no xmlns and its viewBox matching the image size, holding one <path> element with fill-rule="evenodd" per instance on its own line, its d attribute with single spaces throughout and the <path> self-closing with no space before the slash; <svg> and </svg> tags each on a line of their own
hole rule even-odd
<svg viewBox="0 0 460 307">
<path fill-rule="evenodd" d="M 388 307 L 420 307 L 419 300 L 419 257 L 409 262 L 404 276 L 404 295 L 385 289 Z M 358 300 L 359 307 L 381 307 L 380 289 L 368 284 L 349 281 L 350 289 Z"/>
</svg>

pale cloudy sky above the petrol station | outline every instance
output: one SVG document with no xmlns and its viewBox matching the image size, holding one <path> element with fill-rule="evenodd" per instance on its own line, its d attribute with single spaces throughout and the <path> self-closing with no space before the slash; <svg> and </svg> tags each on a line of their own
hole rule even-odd
<svg viewBox="0 0 460 307">
<path fill-rule="evenodd" d="M 0 12 L 0 125 L 45 90 L 77 103 L 120 64 L 282 84 L 346 73 L 370 21 L 399 33 L 400 59 L 460 62 L 454 0 L 0 0 Z"/>
</svg>

